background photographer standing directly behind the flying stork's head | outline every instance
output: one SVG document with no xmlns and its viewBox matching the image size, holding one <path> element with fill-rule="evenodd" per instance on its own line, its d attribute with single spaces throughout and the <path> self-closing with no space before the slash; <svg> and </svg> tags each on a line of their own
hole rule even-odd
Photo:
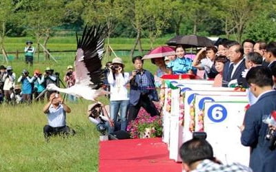
<svg viewBox="0 0 276 172">
<path fill-rule="evenodd" d="M 56 72 L 56 74 L 59 74 Z M 44 79 L 45 79 L 45 83 L 46 83 L 46 87 L 47 85 L 49 84 L 55 84 L 57 85 L 57 87 L 59 87 L 59 78 L 58 76 L 54 74 L 54 69 L 51 69 L 50 67 L 46 67 L 46 70 L 45 72 L 43 73 L 44 75 Z M 47 99 L 50 100 L 50 95 L 55 92 L 55 91 L 48 91 L 46 96 L 47 96 Z"/>
</svg>

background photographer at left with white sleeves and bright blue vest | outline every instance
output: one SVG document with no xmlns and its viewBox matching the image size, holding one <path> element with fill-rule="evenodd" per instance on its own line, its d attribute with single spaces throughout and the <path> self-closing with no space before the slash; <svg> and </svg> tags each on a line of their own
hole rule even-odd
<svg viewBox="0 0 276 172">
<path fill-rule="evenodd" d="M 29 72 L 26 69 L 23 69 L 21 76 L 19 76 L 17 80 L 18 83 L 21 83 L 23 103 L 31 103 L 33 80 L 34 77 L 30 78 Z"/>
</svg>

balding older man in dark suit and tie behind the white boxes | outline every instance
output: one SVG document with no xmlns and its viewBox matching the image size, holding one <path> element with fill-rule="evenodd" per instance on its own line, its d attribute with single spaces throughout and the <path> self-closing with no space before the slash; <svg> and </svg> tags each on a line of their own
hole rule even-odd
<svg viewBox="0 0 276 172">
<path fill-rule="evenodd" d="M 246 69 L 244 60 L 244 49 L 239 43 L 235 43 L 228 50 L 229 67 L 224 67 L 222 87 L 230 87 L 232 85 L 242 85 L 247 87 L 247 83 L 242 80 L 242 72 Z"/>
</svg>

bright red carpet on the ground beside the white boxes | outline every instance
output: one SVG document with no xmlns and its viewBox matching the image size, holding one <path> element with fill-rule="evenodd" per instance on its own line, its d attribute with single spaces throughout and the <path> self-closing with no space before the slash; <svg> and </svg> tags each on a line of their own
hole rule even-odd
<svg viewBox="0 0 276 172">
<path fill-rule="evenodd" d="M 103 141 L 99 147 L 100 172 L 181 171 L 161 138 Z"/>
</svg>

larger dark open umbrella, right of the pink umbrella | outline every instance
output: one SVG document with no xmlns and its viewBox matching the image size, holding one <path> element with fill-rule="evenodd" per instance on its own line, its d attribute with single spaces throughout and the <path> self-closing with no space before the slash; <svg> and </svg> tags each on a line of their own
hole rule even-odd
<svg viewBox="0 0 276 172">
<path fill-rule="evenodd" d="M 194 34 L 183 36 L 181 39 L 177 40 L 177 44 L 183 47 L 208 47 L 214 46 L 213 42 L 205 36 L 197 36 Z"/>
</svg>

